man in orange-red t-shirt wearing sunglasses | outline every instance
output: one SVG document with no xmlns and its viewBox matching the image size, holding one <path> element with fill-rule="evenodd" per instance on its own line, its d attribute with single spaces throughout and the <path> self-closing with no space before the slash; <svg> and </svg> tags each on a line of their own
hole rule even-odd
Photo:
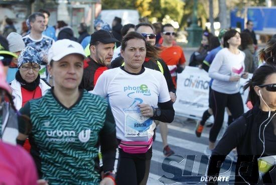
<svg viewBox="0 0 276 185">
<path fill-rule="evenodd" d="M 181 73 L 185 68 L 185 55 L 180 46 L 174 45 L 175 41 L 175 29 L 173 25 L 166 24 L 162 26 L 161 36 L 163 38 L 163 43 L 161 44 L 162 52 L 160 57 L 168 65 L 173 82 L 176 86 L 177 73 Z"/>
</svg>

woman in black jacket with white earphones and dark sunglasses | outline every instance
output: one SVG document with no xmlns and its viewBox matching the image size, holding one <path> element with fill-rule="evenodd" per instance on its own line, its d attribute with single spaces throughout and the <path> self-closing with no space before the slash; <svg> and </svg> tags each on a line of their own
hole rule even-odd
<svg viewBox="0 0 276 185">
<path fill-rule="evenodd" d="M 236 147 L 235 183 L 259 184 L 262 179 L 264 184 L 276 184 L 276 66 L 256 69 L 244 89 L 248 87 L 248 101 L 254 107 L 227 128 L 212 152 L 208 175 L 219 175 L 218 162 Z"/>
</svg>

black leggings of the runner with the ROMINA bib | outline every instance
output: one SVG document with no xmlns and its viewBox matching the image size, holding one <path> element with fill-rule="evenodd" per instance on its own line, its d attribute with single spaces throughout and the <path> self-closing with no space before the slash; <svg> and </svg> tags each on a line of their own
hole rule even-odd
<svg viewBox="0 0 276 185">
<path fill-rule="evenodd" d="M 150 173 L 152 147 L 141 154 L 131 154 L 119 148 L 119 164 L 116 174 L 117 185 L 146 185 Z"/>
</svg>

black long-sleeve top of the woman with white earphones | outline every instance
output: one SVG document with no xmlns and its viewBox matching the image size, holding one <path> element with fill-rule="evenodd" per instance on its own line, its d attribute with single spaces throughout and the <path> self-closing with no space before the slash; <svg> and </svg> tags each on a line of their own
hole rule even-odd
<svg viewBox="0 0 276 185">
<path fill-rule="evenodd" d="M 273 114 L 271 114 L 271 116 Z M 245 179 L 250 184 L 258 184 L 258 158 L 263 151 L 262 145 L 258 144 L 261 143 L 259 140 L 259 128 L 261 123 L 263 123 L 267 117 L 268 112 L 263 112 L 259 108 L 254 107 L 252 110 L 243 114 L 236 121 L 234 121 L 227 128 L 222 139 L 218 142 L 212 152 L 208 167 L 208 175 L 218 175 L 220 171 L 218 163 L 222 163 L 225 160 L 226 155 L 236 147 L 238 159 L 235 170 L 235 182 L 244 182 Z M 267 134 L 273 132 L 273 129 L 271 129 L 273 128 L 273 119 L 269 124 L 271 126 L 270 129 L 267 128 L 265 130 L 265 142 L 268 145 L 265 144 L 264 155 L 262 156 L 265 156 L 266 153 L 269 153 L 269 155 L 276 155 L 276 151 L 273 149 L 276 145 L 276 137 L 275 135 L 271 137 L 271 134 Z M 261 134 L 263 128 L 264 124 L 260 128 Z M 272 174 L 270 177 L 269 173 L 266 172 L 264 176 L 262 176 L 262 179 L 266 184 L 275 184 L 275 174 Z"/>
</svg>

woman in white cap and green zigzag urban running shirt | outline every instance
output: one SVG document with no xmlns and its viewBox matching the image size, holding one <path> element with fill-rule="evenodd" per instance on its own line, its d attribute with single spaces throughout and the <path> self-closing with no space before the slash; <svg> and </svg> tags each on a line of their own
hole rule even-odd
<svg viewBox="0 0 276 185">
<path fill-rule="evenodd" d="M 29 136 L 39 176 L 50 184 L 115 184 L 115 122 L 106 100 L 78 89 L 84 57 L 79 43 L 55 42 L 48 53 L 54 87 L 20 110 L 30 118 L 31 130 L 26 132 L 26 122 L 20 119 L 18 140 Z M 105 173 L 102 180 L 95 170 L 98 142 Z"/>
</svg>

